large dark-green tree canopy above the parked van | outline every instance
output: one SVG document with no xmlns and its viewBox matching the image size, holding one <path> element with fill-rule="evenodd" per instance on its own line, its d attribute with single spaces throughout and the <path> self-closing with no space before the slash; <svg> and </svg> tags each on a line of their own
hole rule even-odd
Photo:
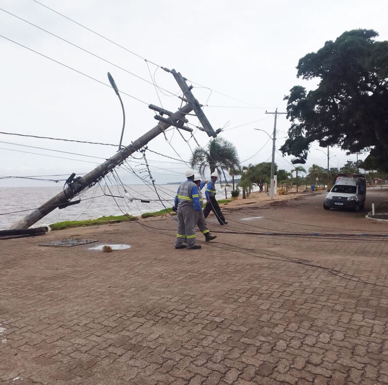
<svg viewBox="0 0 388 385">
<path fill-rule="evenodd" d="M 353 153 L 370 150 L 366 164 L 388 169 L 388 41 L 377 36 L 347 31 L 300 59 L 297 76 L 320 81 L 314 90 L 294 86 L 285 96 L 291 127 L 280 150 L 294 155 L 294 164 L 306 162 L 317 140 Z"/>
</svg>

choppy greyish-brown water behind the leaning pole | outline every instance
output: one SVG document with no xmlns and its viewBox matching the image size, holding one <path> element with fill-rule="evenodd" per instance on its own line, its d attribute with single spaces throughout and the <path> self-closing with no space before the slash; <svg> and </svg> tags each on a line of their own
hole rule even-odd
<svg viewBox="0 0 388 385">
<path fill-rule="evenodd" d="M 150 203 L 142 203 L 140 200 L 129 202 L 125 198 L 104 196 L 104 193 L 121 197 L 124 196 L 123 187 L 109 186 L 109 188 L 111 191 L 105 188 L 104 192 L 103 187 L 96 185 L 90 189 L 84 190 L 84 192 L 81 193 L 81 202 L 79 204 L 68 206 L 61 210 L 56 208 L 40 219 L 33 227 L 47 226 L 62 221 L 94 219 L 103 215 L 122 215 L 123 213 L 140 215 L 143 212 L 164 209 L 152 186 L 135 185 L 126 187 L 126 190 L 132 197 L 138 199 L 151 199 Z M 166 200 L 164 201 L 166 207 L 173 206 L 177 188 L 178 185 L 157 185 L 157 191 L 160 198 Z M 202 190 L 203 195 L 205 195 L 204 190 L 205 189 Z M 31 210 L 12 212 L 37 208 L 61 191 L 62 186 L 0 187 L 0 230 L 9 229 L 15 222 L 30 213 Z M 228 196 L 230 196 L 230 189 L 228 189 L 228 191 Z M 218 193 L 217 198 L 225 198 L 225 193 Z M 78 200 L 78 197 L 73 200 Z"/>
</svg>

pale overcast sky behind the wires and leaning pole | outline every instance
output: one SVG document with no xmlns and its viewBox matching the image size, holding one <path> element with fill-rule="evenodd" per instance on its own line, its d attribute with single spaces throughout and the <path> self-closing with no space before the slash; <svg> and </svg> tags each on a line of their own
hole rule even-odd
<svg viewBox="0 0 388 385">
<path fill-rule="evenodd" d="M 264 132 L 254 130 L 257 128 L 272 135 L 274 117 L 266 115 L 265 111 L 273 112 L 277 107 L 279 112 L 285 112 L 283 97 L 294 85 L 316 86 L 313 81 L 305 82 L 296 77 L 296 66 L 301 57 L 318 50 L 326 40 L 334 40 L 344 31 L 356 28 L 374 29 L 379 33 L 379 40 L 388 40 L 388 6 L 382 0 L 39 2 L 127 50 L 33 0 L 1 0 L 0 131 L 118 144 L 122 128 L 120 102 L 112 88 L 98 82 L 109 84 L 109 71 L 119 89 L 134 97 L 122 94 L 126 113 L 123 143 L 130 143 L 157 123 L 148 104 L 170 111 L 176 111 L 180 106 L 180 100 L 172 95 L 179 94 L 179 87 L 173 76 L 158 65 L 181 72 L 189 79 L 189 84 L 197 83 L 193 83 L 193 94 L 201 103 L 209 105 L 204 112 L 213 128 L 224 128 L 221 136 L 235 144 L 243 164 L 270 161 L 270 138 Z M 165 90 L 159 88 L 157 92 L 153 81 Z M 190 123 L 198 125 L 195 117 L 189 118 Z M 285 115 L 280 115 L 276 148 L 283 144 L 288 127 Z M 186 132 L 183 136 L 186 140 L 190 138 Z M 209 141 L 206 133 L 201 131 L 196 132 L 195 137 L 202 146 Z M 182 159 L 189 159 L 190 148 L 176 129 L 168 131 L 166 138 L 159 135 L 149 143 L 149 148 L 177 158 L 175 149 Z M 82 174 L 112 156 L 117 149 L 5 134 L 0 134 L 0 141 L 2 176 Z M 196 146 L 193 139 L 188 144 L 192 149 Z M 327 167 L 326 149 L 315 148 L 318 148 L 317 144 L 312 146 L 304 165 L 306 169 L 312 163 Z M 330 167 L 341 167 L 346 160 L 356 159 L 356 155 L 346 156 L 335 147 L 330 153 Z M 146 155 L 157 183 L 182 179 L 184 163 L 149 151 Z M 361 159 L 364 157 L 360 156 Z M 290 159 L 283 158 L 280 153 L 275 156 L 278 167 L 287 171 L 294 167 L 289 163 Z M 137 166 L 137 170 L 142 170 L 142 166 Z M 139 183 L 129 173 L 120 175 L 128 183 Z M 26 183 L 3 179 L 0 187 Z M 42 185 L 44 182 L 32 183 Z"/>
</svg>

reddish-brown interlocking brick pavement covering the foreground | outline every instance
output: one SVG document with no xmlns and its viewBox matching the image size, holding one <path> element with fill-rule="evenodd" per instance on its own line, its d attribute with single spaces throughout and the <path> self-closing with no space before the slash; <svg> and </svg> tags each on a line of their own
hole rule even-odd
<svg viewBox="0 0 388 385">
<path fill-rule="evenodd" d="M 209 222 L 214 231 L 388 233 L 322 201 L 226 212 L 227 228 Z M 171 219 L 142 223 L 150 227 L 1 241 L 0 381 L 388 383 L 383 238 L 220 233 L 199 252 L 173 249 Z M 132 247 L 38 246 L 70 236 Z"/>
</svg>

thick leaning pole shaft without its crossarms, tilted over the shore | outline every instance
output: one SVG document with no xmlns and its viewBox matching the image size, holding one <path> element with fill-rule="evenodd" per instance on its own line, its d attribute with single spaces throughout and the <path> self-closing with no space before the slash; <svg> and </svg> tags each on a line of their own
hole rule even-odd
<svg viewBox="0 0 388 385">
<path fill-rule="evenodd" d="M 116 166 L 119 166 L 119 164 L 121 164 L 128 156 L 139 150 L 141 147 L 145 146 L 150 140 L 164 132 L 168 127 L 179 125 L 178 122 L 183 120 L 185 114 L 190 113 L 192 110 L 193 106 L 191 103 L 184 105 L 174 114 L 172 114 L 168 120 L 159 122 L 158 125 L 153 129 L 140 136 L 140 138 L 132 142 L 131 145 L 126 146 L 118 151 L 115 155 L 107 159 L 104 163 L 100 164 L 100 166 L 96 167 L 88 174 L 76 179 L 74 179 L 75 174 L 72 175 L 62 192 L 57 194 L 54 198 L 51 198 L 47 202 L 43 203 L 39 208 L 34 209 L 19 222 L 15 223 L 11 229 L 28 229 L 30 226 L 38 222 L 41 218 L 57 207 L 63 208 L 69 204 L 73 204 L 70 202 L 70 199 L 72 199 L 87 187 L 94 185 L 108 173 L 112 172 L 113 169 Z"/>
</svg>

